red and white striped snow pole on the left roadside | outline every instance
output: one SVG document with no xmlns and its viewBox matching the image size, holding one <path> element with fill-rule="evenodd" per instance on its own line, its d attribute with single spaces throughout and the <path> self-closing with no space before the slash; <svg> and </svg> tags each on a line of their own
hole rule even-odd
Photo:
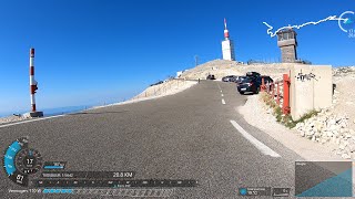
<svg viewBox="0 0 355 199">
<path fill-rule="evenodd" d="M 30 49 L 30 91 L 31 91 L 31 112 L 29 116 L 31 117 L 42 117 L 43 112 L 37 112 L 36 108 L 36 91 L 38 82 L 34 80 L 34 49 Z"/>
</svg>

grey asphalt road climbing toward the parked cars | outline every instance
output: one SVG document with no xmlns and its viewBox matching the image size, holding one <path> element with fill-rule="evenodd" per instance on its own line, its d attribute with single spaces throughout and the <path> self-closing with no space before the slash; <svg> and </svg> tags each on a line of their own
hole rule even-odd
<svg viewBox="0 0 355 199">
<path fill-rule="evenodd" d="M 202 81 L 171 96 L 0 127 L 0 146 L 4 150 L 29 136 L 44 160 L 68 161 L 67 170 L 199 180 L 195 188 L 175 189 L 171 198 L 239 198 L 240 187 L 292 188 L 293 195 L 294 161 L 302 158 L 239 115 L 235 108 L 245 101 L 232 83 Z M 278 156 L 265 155 L 231 121 Z M 9 193 L 21 187 L 0 170 L 0 198 L 55 197 Z"/>
</svg>

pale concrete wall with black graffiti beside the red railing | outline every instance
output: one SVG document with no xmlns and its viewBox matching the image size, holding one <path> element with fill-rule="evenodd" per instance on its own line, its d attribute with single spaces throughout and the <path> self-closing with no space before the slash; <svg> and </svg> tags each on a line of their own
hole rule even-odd
<svg viewBox="0 0 355 199">
<path fill-rule="evenodd" d="M 291 115 L 298 119 L 313 109 L 332 105 L 332 66 L 301 65 L 291 69 Z"/>
</svg>

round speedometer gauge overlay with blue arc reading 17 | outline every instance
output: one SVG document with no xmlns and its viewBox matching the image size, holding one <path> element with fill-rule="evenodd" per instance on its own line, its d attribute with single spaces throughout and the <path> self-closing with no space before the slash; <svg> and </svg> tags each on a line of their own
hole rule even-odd
<svg viewBox="0 0 355 199">
<path fill-rule="evenodd" d="M 3 156 L 9 179 L 23 187 L 29 185 L 29 175 L 39 171 L 43 164 L 41 154 L 28 145 L 28 137 L 21 137 L 8 147 Z"/>
</svg>

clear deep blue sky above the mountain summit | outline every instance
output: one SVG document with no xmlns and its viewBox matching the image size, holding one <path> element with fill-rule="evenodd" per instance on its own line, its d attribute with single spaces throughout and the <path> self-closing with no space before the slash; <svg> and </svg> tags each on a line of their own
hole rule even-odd
<svg viewBox="0 0 355 199">
<path fill-rule="evenodd" d="M 30 108 L 29 49 L 36 48 L 39 109 L 116 102 L 200 62 L 221 59 L 223 18 L 239 61 L 277 60 L 275 29 L 355 10 L 351 0 L 0 1 L 0 115 Z M 293 7 L 292 7 L 293 6 Z M 355 39 L 336 21 L 297 31 L 298 55 L 355 65 Z"/>
</svg>

